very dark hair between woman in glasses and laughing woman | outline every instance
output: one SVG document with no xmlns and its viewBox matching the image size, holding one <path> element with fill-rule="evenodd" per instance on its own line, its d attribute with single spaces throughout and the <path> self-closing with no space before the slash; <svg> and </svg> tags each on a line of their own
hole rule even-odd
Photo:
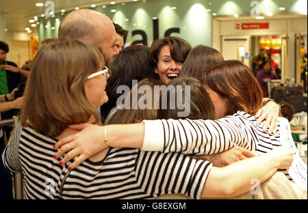
<svg viewBox="0 0 308 213">
<path fill-rule="evenodd" d="M 105 119 L 111 109 L 116 106 L 116 100 L 121 94 L 116 93 L 120 85 L 131 89 L 132 80 L 158 79 L 149 58 L 150 48 L 144 45 L 132 45 L 123 48 L 110 66 L 111 76 L 107 81 L 107 96 L 109 101 L 101 106 L 101 115 Z"/>
</svg>

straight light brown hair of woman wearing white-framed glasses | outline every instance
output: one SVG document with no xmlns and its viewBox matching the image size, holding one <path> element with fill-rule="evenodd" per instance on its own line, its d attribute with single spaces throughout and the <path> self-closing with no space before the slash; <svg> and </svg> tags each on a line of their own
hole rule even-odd
<svg viewBox="0 0 308 213">
<path fill-rule="evenodd" d="M 21 124 L 56 137 L 69 124 L 100 118 L 86 98 L 90 74 L 105 66 L 100 51 L 81 40 L 47 44 L 36 55 L 28 77 Z"/>
</svg>

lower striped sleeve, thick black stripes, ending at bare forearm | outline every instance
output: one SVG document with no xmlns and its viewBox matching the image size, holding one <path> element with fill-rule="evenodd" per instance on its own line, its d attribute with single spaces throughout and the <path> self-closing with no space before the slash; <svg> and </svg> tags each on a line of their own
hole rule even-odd
<svg viewBox="0 0 308 213">
<path fill-rule="evenodd" d="M 181 153 L 140 152 L 136 181 L 151 197 L 181 193 L 200 199 L 211 166 Z"/>
</svg>

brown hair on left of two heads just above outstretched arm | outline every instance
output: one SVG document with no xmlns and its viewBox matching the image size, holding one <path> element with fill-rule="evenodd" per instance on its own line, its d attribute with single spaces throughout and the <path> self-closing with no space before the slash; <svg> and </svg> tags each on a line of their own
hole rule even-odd
<svg viewBox="0 0 308 213">
<path fill-rule="evenodd" d="M 155 103 L 159 100 L 159 94 L 155 94 L 155 85 L 160 86 L 163 85 L 163 83 L 159 81 L 159 79 L 143 79 L 138 83 L 137 87 L 131 88 L 129 92 L 129 109 L 118 109 L 118 111 L 112 115 L 108 124 L 134 124 L 142 122 L 144 119 L 157 119 L 158 106 L 155 106 Z M 142 86 L 149 86 L 151 88 L 151 94 L 139 94 L 138 88 Z M 133 93 L 138 94 L 137 100 L 133 100 Z M 151 96 L 151 109 L 140 109 L 139 106 L 138 109 L 133 109 L 133 101 L 139 102 L 140 98 L 144 95 Z"/>
</svg>

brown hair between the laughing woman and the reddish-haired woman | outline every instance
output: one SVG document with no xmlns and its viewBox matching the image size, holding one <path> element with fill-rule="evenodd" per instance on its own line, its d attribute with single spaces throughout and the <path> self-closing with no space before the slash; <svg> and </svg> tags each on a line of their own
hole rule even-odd
<svg viewBox="0 0 308 213">
<path fill-rule="evenodd" d="M 202 68 L 214 66 L 224 61 L 222 55 L 214 48 L 198 45 L 190 51 L 181 68 L 181 76 L 198 78 L 198 72 Z"/>
</svg>

